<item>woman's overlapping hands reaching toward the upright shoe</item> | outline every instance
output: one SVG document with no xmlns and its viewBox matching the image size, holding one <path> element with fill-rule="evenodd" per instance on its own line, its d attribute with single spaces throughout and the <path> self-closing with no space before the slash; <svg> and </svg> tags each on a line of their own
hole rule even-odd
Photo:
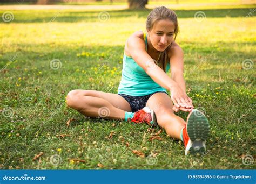
<svg viewBox="0 0 256 184">
<path fill-rule="evenodd" d="M 187 94 L 178 86 L 173 86 L 170 89 L 171 99 L 174 103 L 173 111 L 178 112 L 179 110 L 190 112 L 193 110 L 192 100 Z"/>
</svg>

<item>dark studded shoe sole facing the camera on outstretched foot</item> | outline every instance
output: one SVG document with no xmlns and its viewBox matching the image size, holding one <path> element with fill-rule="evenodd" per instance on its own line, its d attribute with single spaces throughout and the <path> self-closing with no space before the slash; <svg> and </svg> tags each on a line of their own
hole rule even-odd
<svg viewBox="0 0 256 184">
<path fill-rule="evenodd" d="M 205 141 L 210 134 L 210 125 L 205 115 L 197 109 L 194 109 L 187 118 L 187 134 L 192 141 L 189 152 L 203 154 Z"/>
</svg>

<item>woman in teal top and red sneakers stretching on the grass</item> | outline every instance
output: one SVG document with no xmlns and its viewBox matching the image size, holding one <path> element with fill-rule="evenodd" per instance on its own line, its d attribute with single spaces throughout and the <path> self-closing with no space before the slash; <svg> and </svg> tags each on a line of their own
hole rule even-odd
<svg viewBox="0 0 256 184">
<path fill-rule="evenodd" d="M 68 106 L 90 117 L 149 125 L 157 120 L 170 137 L 184 142 L 186 155 L 204 152 L 210 126 L 186 95 L 183 51 L 175 43 L 178 31 L 174 11 L 164 6 L 153 9 L 147 16 L 146 33 L 134 32 L 126 41 L 118 94 L 72 90 Z M 170 66 L 171 78 L 166 74 Z M 187 122 L 174 114 L 179 110 L 190 112 Z"/>
</svg>

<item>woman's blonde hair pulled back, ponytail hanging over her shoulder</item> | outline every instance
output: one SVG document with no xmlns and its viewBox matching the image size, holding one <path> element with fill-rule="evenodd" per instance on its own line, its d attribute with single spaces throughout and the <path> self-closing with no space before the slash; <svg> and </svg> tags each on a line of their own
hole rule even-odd
<svg viewBox="0 0 256 184">
<path fill-rule="evenodd" d="M 159 20 L 166 20 L 166 19 L 173 22 L 175 26 L 175 29 L 174 29 L 174 40 L 175 40 L 179 32 L 177 15 L 173 10 L 168 9 L 165 6 L 154 8 L 149 13 L 146 20 L 146 29 L 151 30 L 156 22 L 158 22 Z M 167 62 L 169 61 L 168 51 L 171 48 L 171 46 L 172 46 L 172 43 L 163 52 L 160 52 L 159 61 L 157 61 L 157 65 L 161 69 L 163 69 L 164 72 L 166 69 Z"/>
</svg>

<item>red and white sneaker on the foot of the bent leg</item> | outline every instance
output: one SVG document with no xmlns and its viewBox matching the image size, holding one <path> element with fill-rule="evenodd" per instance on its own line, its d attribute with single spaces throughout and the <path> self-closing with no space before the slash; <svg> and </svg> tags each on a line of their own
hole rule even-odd
<svg viewBox="0 0 256 184">
<path fill-rule="evenodd" d="M 144 107 L 143 109 L 135 112 L 133 118 L 131 118 L 131 122 L 146 123 L 150 126 L 157 126 L 156 115 L 154 114 L 154 111 L 149 107 Z"/>
</svg>

